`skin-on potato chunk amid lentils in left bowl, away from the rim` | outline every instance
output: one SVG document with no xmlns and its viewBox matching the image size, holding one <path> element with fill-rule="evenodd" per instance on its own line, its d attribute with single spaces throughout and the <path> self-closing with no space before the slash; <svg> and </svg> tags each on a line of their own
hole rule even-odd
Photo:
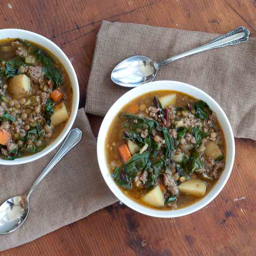
<svg viewBox="0 0 256 256">
<path fill-rule="evenodd" d="M 8 85 L 8 92 L 15 99 L 28 96 L 30 92 L 29 78 L 24 74 L 13 76 Z"/>
</svg>

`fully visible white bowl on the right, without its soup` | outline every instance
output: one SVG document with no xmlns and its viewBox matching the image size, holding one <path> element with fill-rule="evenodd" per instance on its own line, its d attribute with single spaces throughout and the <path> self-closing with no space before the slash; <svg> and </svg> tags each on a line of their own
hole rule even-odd
<svg viewBox="0 0 256 256">
<path fill-rule="evenodd" d="M 113 119 L 116 117 L 116 114 L 120 111 L 120 109 L 127 104 L 132 99 L 155 90 L 175 90 L 180 91 L 182 93 L 187 93 L 197 99 L 202 99 L 210 108 L 217 114 L 219 123 L 224 132 L 225 140 L 226 140 L 226 166 L 225 170 L 223 170 L 221 177 L 215 184 L 215 186 L 211 189 L 211 191 L 203 197 L 198 202 L 192 204 L 191 206 L 181 208 L 178 210 L 154 210 L 148 207 L 145 207 L 141 204 L 136 203 L 135 201 L 129 199 L 124 193 L 117 187 L 116 183 L 113 181 L 112 177 L 110 176 L 108 166 L 106 164 L 106 157 L 105 157 L 105 147 L 104 142 L 107 136 L 108 130 L 110 125 L 112 124 Z M 153 216 L 153 217 L 161 217 L 161 218 L 173 218 L 173 217 L 180 217 L 183 215 L 191 214 L 204 206 L 210 203 L 218 194 L 221 192 L 222 188 L 225 186 L 231 170 L 233 168 L 234 157 L 235 157 L 235 142 L 234 142 L 234 135 L 227 119 L 226 114 L 222 110 L 222 108 L 218 105 L 218 103 L 212 99 L 208 94 L 204 93 L 202 90 L 197 89 L 194 86 L 191 86 L 186 83 L 176 82 L 176 81 L 156 81 L 144 84 L 142 86 L 136 87 L 127 93 L 125 93 L 122 97 L 120 97 L 113 106 L 109 109 L 108 113 L 106 114 L 101 128 L 99 129 L 98 141 L 97 141 L 97 156 L 98 156 L 98 163 L 99 168 L 101 170 L 102 176 L 106 181 L 106 184 L 110 188 L 110 190 L 114 193 L 114 195 L 125 205 L 129 206 L 135 211 L 140 213 Z"/>
</svg>

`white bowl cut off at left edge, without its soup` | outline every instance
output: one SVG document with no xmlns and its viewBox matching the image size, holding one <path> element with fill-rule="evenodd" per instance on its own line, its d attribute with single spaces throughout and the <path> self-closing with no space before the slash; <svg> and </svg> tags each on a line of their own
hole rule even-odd
<svg viewBox="0 0 256 256">
<path fill-rule="evenodd" d="M 43 37 L 42 35 L 27 31 L 27 30 L 22 30 L 22 29 L 1 29 L 0 30 L 0 40 L 5 39 L 5 38 L 22 38 L 22 39 L 27 39 L 31 42 L 35 42 L 36 44 L 44 46 L 46 49 L 48 49 L 50 52 L 52 52 L 63 64 L 65 67 L 70 81 L 72 85 L 72 90 L 73 90 L 73 101 L 72 101 L 72 109 L 71 109 L 71 115 L 69 117 L 68 123 L 66 124 L 65 128 L 59 135 L 59 137 L 54 140 L 52 144 L 50 144 L 48 147 L 46 147 L 44 150 L 42 150 L 39 153 L 36 153 L 34 155 L 28 156 L 28 157 L 22 157 L 15 159 L 13 161 L 10 160 L 4 160 L 0 158 L 0 165 L 19 165 L 21 163 L 29 163 L 31 161 L 34 161 L 38 158 L 41 158 L 48 154 L 50 151 L 52 151 L 54 148 L 56 148 L 67 136 L 69 130 L 71 129 L 75 118 L 76 114 L 78 111 L 78 105 L 79 105 L 79 85 L 78 85 L 78 79 L 76 77 L 75 70 L 69 61 L 68 57 L 65 55 L 65 53 L 57 46 L 54 44 L 52 41 L 49 39 Z"/>
</svg>

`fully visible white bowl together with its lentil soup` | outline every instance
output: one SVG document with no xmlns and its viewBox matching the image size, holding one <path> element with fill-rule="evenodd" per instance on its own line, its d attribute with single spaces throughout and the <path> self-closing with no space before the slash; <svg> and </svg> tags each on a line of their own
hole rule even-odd
<svg viewBox="0 0 256 256">
<path fill-rule="evenodd" d="M 179 217 L 210 203 L 234 163 L 226 114 L 202 90 L 176 81 L 136 87 L 106 114 L 97 142 L 107 185 L 125 205 Z"/>
</svg>

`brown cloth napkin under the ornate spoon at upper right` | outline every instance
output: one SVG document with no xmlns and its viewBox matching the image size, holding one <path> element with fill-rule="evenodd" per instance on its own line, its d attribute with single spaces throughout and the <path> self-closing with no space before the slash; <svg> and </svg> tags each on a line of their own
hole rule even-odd
<svg viewBox="0 0 256 256">
<path fill-rule="evenodd" d="M 103 21 L 97 35 L 86 112 L 104 116 L 128 91 L 110 80 L 112 69 L 120 61 L 134 55 L 160 61 L 217 36 Z M 161 68 L 155 80 L 177 80 L 202 89 L 223 108 L 236 137 L 256 139 L 256 38 L 176 60 Z"/>
</svg>

